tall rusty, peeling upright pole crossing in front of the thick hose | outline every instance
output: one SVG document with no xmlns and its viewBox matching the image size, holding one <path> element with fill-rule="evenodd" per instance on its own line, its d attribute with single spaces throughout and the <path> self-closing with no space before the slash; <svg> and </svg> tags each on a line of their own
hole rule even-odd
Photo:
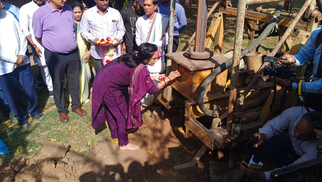
<svg viewBox="0 0 322 182">
<path fill-rule="evenodd" d="M 232 129 L 232 118 L 234 115 L 234 105 L 236 102 L 237 94 L 237 82 L 238 82 L 238 72 L 239 72 L 239 62 L 242 51 L 242 35 L 244 32 L 244 19 L 246 11 L 246 0 L 239 0 L 237 6 L 237 19 L 236 19 L 236 34 L 234 43 L 234 52 L 232 55 L 232 74 L 231 74 L 231 84 L 230 93 L 228 101 L 228 117 L 226 130 L 230 131 Z"/>
</svg>

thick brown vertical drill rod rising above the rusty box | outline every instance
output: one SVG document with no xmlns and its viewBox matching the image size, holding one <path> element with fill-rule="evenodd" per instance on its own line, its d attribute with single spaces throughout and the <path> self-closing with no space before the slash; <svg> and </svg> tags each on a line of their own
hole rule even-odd
<svg viewBox="0 0 322 182">
<path fill-rule="evenodd" d="M 204 52 L 204 40 L 207 29 L 207 3 L 206 0 L 198 0 L 196 23 L 196 39 L 194 43 L 195 52 Z"/>
</svg>

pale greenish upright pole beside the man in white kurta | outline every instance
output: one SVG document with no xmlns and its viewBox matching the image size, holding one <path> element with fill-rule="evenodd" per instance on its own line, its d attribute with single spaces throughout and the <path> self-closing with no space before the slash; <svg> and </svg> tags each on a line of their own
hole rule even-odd
<svg viewBox="0 0 322 182">
<path fill-rule="evenodd" d="M 173 32 L 175 24 L 175 0 L 170 1 L 170 19 L 169 19 L 169 41 L 168 41 L 168 53 L 172 53 L 173 50 Z M 171 60 L 166 62 L 166 75 L 169 75 L 171 71 Z"/>
</svg>

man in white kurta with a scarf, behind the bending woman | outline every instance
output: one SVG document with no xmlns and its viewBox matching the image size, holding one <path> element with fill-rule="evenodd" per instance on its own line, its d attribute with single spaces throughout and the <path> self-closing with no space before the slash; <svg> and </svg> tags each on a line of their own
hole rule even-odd
<svg viewBox="0 0 322 182">
<path fill-rule="evenodd" d="M 137 31 L 135 33 L 136 38 L 135 41 L 137 46 L 140 46 L 144 42 L 155 44 L 160 50 L 162 56 L 158 58 L 158 61 L 154 64 L 154 66 L 147 65 L 147 70 L 150 72 L 150 76 L 156 76 L 163 73 L 164 66 L 164 46 L 168 44 L 168 27 L 169 27 L 169 17 L 164 14 L 156 13 L 155 10 L 157 8 L 157 0 L 144 0 L 144 11 L 145 15 L 141 16 L 137 19 L 136 27 Z M 151 35 L 149 40 L 147 40 L 147 36 L 153 22 L 154 16 L 156 16 L 156 20 L 154 26 L 151 31 Z M 158 81 L 154 81 L 157 83 Z M 142 106 L 149 106 L 152 104 L 154 99 L 154 95 L 147 94 L 141 100 Z"/>
</svg>

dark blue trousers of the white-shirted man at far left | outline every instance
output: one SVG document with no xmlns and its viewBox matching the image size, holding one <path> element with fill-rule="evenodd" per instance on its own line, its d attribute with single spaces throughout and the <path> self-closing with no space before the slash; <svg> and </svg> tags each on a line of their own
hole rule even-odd
<svg viewBox="0 0 322 182">
<path fill-rule="evenodd" d="M 5 97 L 7 98 L 9 107 L 14 114 L 14 117 L 18 120 L 18 122 L 22 122 L 27 118 L 27 114 L 20 105 L 21 96 L 18 86 L 18 78 L 27 98 L 27 112 L 30 115 L 37 115 L 39 113 L 39 107 L 37 104 L 35 86 L 33 85 L 33 71 L 31 70 L 29 64 L 19 66 L 11 73 L 0 75 L 0 86 L 5 93 Z"/>
</svg>

